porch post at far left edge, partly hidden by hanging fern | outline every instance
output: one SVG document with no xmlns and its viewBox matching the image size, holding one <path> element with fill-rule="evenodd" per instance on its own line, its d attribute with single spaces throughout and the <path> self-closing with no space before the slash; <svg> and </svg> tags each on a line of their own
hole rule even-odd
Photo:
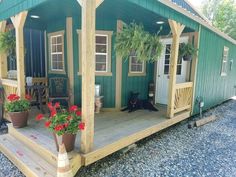
<svg viewBox="0 0 236 177">
<path fill-rule="evenodd" d="M 7 22 L 0 22 L 0 33 L 4 33 L 6 29 Z M 0 79 L 7 77 L 7 54 L 0 54 Z"/>
</svg>

